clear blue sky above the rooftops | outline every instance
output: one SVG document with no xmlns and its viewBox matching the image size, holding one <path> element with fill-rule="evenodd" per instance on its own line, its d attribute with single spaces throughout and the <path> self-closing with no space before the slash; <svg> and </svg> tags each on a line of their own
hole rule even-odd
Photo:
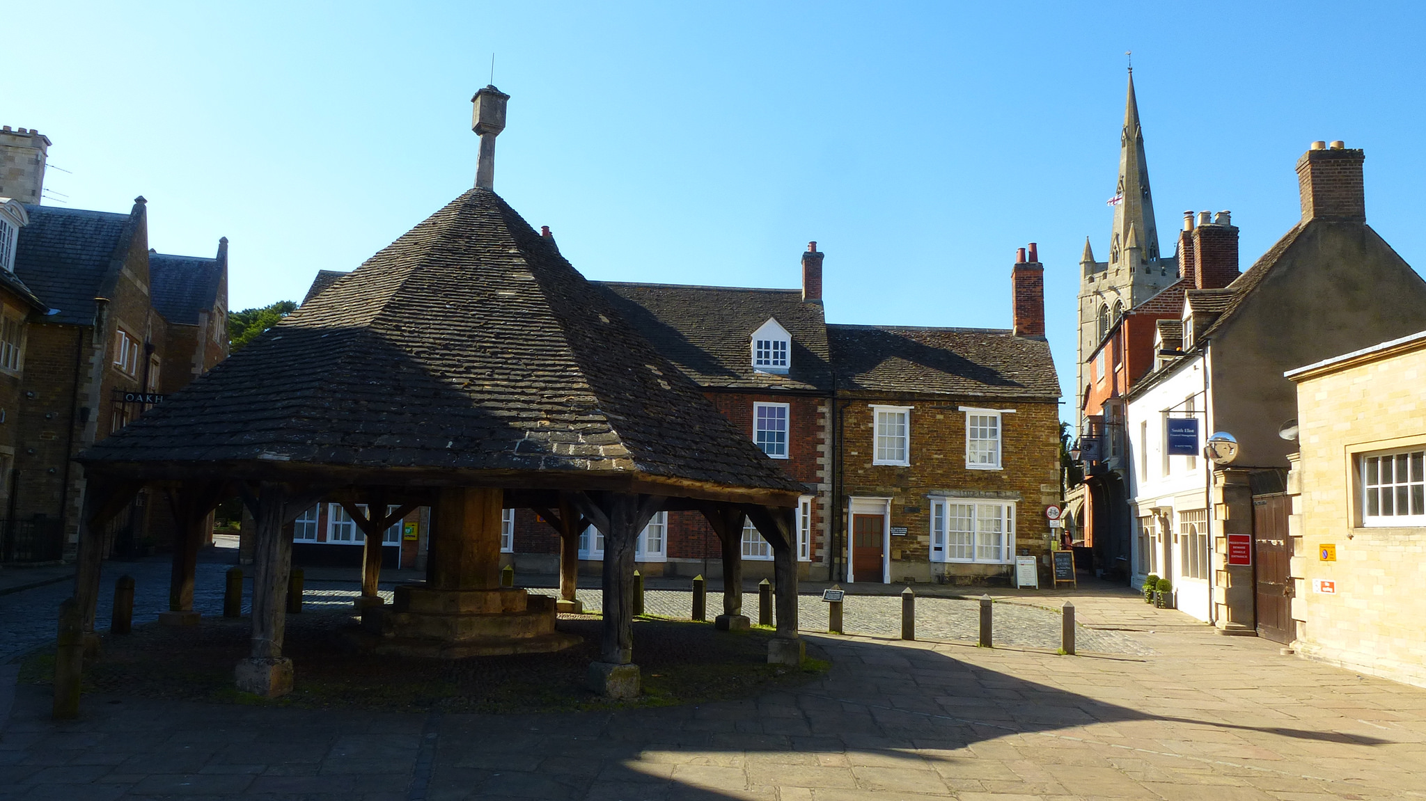
<svg viewBox="0 0 1426 801">
<path fill-rule="evenodd" d="M 1298 155 L 1345 140 L 1369 222 L 1426 265 L 1420 4 L 217 6 L 13 4 L 0 123 L 54 141 L 68 205 L 141 194 L 163 252 L 228 237 L 234 309 L 471 185 L 492 51 L 495 188 L 586 277 L 796 286 L 816 239 L 829 321 L 1007 328 L 1035 241 L 1067 396 L 1125 50 L 1165 251 L 1184 210 L 1231 210 L 1246 269 L 1298 218 Z"/>
</svg>

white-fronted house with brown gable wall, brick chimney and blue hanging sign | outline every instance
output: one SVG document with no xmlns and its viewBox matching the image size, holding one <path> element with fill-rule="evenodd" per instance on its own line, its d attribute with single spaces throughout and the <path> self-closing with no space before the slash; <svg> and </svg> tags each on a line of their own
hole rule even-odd
<svg viewBox="0 0 1426 801">
<path fill-rule="evenodd" d="M 1178 325 L 1158 322 L 1159 366 L 1125 395 L 1129 512 L 1141 536 L 1134 562 L 1174 582 L 1181 611 L 1225 633 L 1262 631 L 1255 567 L 1229 543 L 1253 536 L 1256 483 L 1276 483 L 1293 445 L 1279 430 L 1298 418 L 1298 393 L 1283 372 L 1426 328 L 1426 281 L 1368 224 L 1360 150 L 1313 143 L 1298 161 L 1302 219 L 1256 264 L 1222 288 L 1185 291 Z M 1198 264 L 1226 272 L 1236 237 L 1226 214 L 1216 251 L 1199 242 Z M 1232 247 L 1229 247 L 1232 245 Z M 1172 455 L 1168 429 L 1196 419 L 1236 438 L 1236 455 L 1216 466 L 1196 446 Z M 1141 554 L 1147 549 L 1148 554 Z"/>
</svg>

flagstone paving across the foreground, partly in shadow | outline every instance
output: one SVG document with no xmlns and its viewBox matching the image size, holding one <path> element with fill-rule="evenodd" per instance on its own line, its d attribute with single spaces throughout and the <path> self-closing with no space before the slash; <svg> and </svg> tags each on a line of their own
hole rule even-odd
<svg viewBox="0 0 1426 801">
<path fill-rule="evenodd" d="M 796 691 L 542 715 L 86 696 L 53 723 L 24 686 L 0 798 L 1426 798 L 1426 690 L 1178 627 L 1127 593 L 1084 606 L 1145 621 L 1121 634 L 1154 654 L 807 636 L 833 667 Z"/>
</svg>

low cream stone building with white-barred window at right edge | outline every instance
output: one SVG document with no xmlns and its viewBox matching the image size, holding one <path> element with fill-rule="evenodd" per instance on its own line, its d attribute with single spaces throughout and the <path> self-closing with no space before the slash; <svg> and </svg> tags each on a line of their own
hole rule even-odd
<svg viewBox="0 0 1426 801">
<path fill-rule="evenodd" d="M 1426 331 L 1286 376 L 1292 647 L 1426 687 Z"/>
</svg>

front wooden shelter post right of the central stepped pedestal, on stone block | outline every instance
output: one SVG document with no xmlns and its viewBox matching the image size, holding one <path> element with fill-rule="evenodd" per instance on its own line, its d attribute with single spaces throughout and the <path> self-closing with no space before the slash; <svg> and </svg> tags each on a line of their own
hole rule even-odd
<svg viewBox="0 0 1426 801">
<path fill-rule="evenodd" d="M 589 688 L 610 698 L 639 694 L 639 668 L 633 664 L 633 564 L 639 532 L 663 506 L 645 495 L 600 493 L 572 496 L 572 502 L 605 533 L 603 636 L 599 661 L 589 666 Z"/>
</svg>

